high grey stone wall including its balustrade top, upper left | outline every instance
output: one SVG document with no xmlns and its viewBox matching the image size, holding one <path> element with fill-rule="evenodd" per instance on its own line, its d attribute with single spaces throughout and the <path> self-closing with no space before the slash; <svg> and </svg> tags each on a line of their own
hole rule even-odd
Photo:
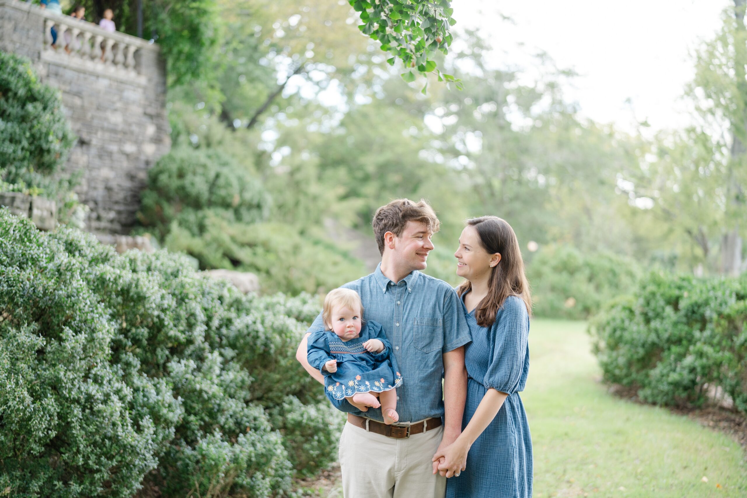
<svg viewBox="0 0 747 498">
<path fill-rule="evenodd" d="M 52 25 L 57 49 L 49 44 Z M 67 54 L 64 40 L 72 37 L 75 50 Z M 76 191 L 90 207 L 87 230 L 128 233 L 147 171 L 170 148 L 158 46 L 25 1 L 0 0 L 0 50 L 30 58 L 43 82 L 61 90 L 78 136 L 66 171 L 81 176 Z"/>
</svg>

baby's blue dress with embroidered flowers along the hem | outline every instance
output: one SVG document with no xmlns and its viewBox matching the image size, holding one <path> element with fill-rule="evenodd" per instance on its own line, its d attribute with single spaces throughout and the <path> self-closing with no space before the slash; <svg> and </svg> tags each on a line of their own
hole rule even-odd
<svg viewBox="0 0 747 498">
<path fill-rule="evenodd" d="M 368 339 L 384 343 L 380 353 L 369 353 L 363 348 Z M 356 339 L 343 341 L 332 331 L 317 331 L 309 336 L 307 348 L 309 365 L 324 375 L 324 392 L 327 398 L 343 399 L 355 393 L 382 393 L 402 384 L 391 345 L 381 325 L 369 320 Z M 337 372 L 322 369 L 328 360 L 337 360 Z"/>
</svg>

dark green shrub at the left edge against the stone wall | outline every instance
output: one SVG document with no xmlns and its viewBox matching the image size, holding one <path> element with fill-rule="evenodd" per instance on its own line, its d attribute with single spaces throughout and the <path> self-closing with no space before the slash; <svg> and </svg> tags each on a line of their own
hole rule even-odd
<svg viewBox="0 0 747 498">
<path fill-rule="evenodd" d="M 55 194 L 73 141 L 57 90 L 27 58 L 0 51 L 0 180 Z"/>
</svg>

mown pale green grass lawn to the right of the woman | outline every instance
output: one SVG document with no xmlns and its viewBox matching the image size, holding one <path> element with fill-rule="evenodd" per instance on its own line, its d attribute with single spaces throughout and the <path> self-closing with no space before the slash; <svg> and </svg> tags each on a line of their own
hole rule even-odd
<svg viewBox="0 0 747 498">
<path fill-rule="evenodd" d="M 584 322 L 534 319 L 530 362 L 535 497 L 747 497 L 737 442 L 607 393 Z"/>
</svg>

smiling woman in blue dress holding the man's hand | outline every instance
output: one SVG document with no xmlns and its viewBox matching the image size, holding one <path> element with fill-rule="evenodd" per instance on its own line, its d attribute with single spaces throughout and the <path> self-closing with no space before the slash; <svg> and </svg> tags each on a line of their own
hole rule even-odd
<svg viewBox="0 0 747 498">
<path fill-rule="evenodd" d="M 433 461 L 462 462 L 447 481 L 447 498 L 531 497 L 532 438 L 518 393 L 529 372 L 532 301 L 518 240 L 506 221 L 474 218 L 454 256 L 456 274 L 466 279 L 456 291 L 472 335 L 467 402 L 462 434 Z"/>
</svg>

